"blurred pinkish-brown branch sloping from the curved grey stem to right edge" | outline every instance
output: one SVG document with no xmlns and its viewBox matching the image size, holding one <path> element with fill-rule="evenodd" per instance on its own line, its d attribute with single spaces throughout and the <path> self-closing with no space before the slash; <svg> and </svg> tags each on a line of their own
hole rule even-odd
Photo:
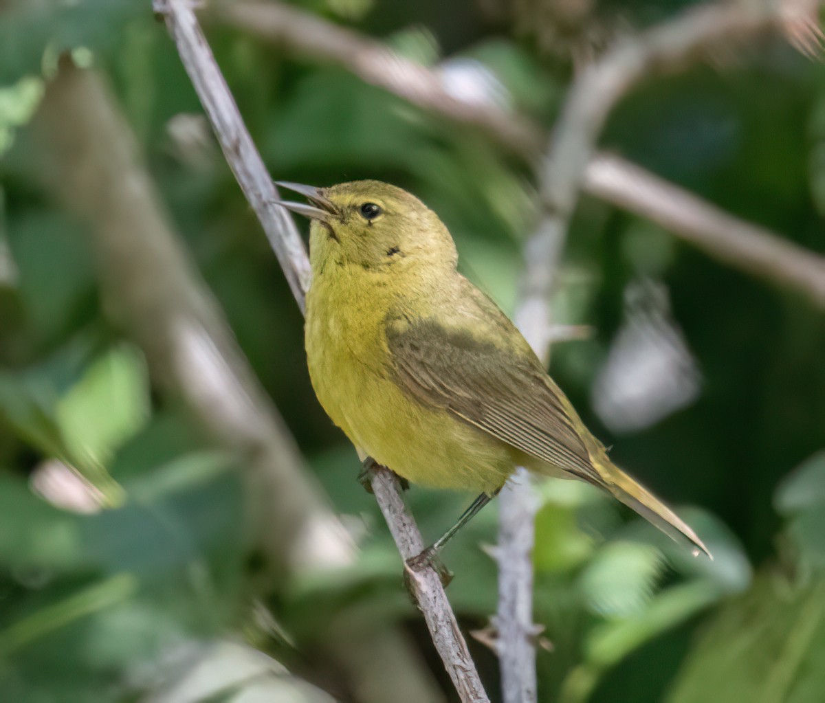
<svg viewBox="0 0 825 703">
<path fill-rule="evenodd" d="M 587 169 L 585 184 L 594 195 L 627 204 L 720 262 L 797 288 L 825 308 L 825 257 L 639 171 L 622 158 L 600 155 Z"/>
</svg>

